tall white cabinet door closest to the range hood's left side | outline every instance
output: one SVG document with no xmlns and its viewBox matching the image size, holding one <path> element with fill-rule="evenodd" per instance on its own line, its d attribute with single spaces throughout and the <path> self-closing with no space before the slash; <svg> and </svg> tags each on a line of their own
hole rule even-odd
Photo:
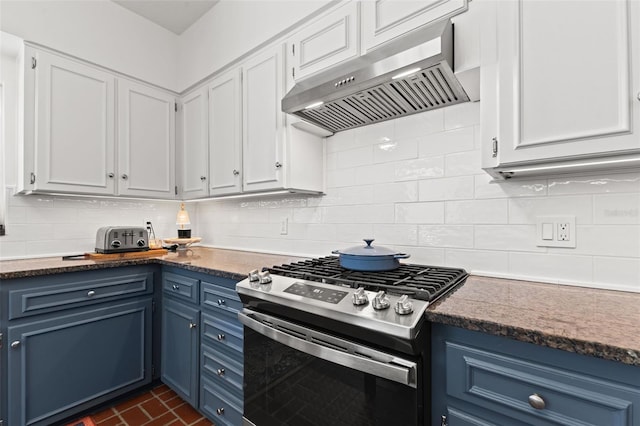
<svg viewBox="0 0 640 426">
<path fill-rule="evenodd" d="M 280 108 L 284 45 L 266 49 L 242 65 L 243 190 L 282 188 L 284 113 Z"/>
</svg>

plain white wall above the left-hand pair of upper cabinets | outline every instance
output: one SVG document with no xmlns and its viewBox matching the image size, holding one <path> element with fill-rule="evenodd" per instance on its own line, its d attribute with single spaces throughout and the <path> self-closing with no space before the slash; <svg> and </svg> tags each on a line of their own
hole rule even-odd
<svg viewBox="0 0 640 426">
<path fill-rule="evenodd" d="M 0 30 L 178 88 L 178 36 L 108 0 L 2 0 Z"/>
</svg>

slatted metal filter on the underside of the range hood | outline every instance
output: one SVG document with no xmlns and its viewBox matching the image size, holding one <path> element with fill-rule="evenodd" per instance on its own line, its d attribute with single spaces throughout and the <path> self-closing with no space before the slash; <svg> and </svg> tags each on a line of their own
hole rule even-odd
<svg viewBox="0 0 640 426">
<path fill-rule="evenodd" d="M 296 114 L 335 133 L 468 100 L 451 70 L 438 64 Z"/>
</svg>

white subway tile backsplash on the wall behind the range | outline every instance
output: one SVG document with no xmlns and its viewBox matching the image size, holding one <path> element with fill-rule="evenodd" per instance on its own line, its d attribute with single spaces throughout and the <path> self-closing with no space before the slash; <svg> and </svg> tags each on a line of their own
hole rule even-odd
<svg viewBox="0 0 640 426">
<path fill-rule="evenodd" d="M 338 133 L 328 139 L 326 196 L 202 203 L 199 235 L 218 247 L 313 256 L 371 236 L 414 263 L 640 292 L 640 173 L 490 183 L 479 109 Z M 536 247 L 535 217 L 565 214 L 576 216 L 577 247 Z"/>
</svg>

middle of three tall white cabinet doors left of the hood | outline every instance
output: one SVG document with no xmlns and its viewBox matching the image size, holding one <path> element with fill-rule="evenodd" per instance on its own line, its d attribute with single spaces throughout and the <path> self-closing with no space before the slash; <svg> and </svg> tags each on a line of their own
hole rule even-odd
<svg viewBox="0 0 640 426">
<path fill-rule="evenodd" d="M 231 70 L 209 84 L 209 194 L 242 191 L 241 72 Z"/>
</svg>

